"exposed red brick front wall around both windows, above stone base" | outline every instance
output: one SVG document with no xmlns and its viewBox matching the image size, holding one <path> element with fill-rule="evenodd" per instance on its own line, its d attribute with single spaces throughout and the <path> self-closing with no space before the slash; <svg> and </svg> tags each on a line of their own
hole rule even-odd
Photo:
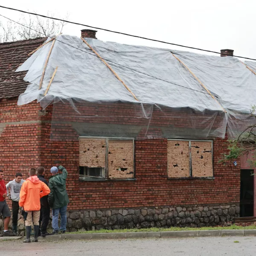
<svg viewBox="0 0 256 256">
<path fill-rule="evenodd" d="M 75 136 L 72 128 L 64 129 L 70 129 L 70 134 Z M 221 153 L 227 151 L 226 140 L 214 141 L 215 179 L 205 180 L 168 180 L 167 140 L 153 139 L 135 141 L 136 181 L 79 181 L 79 143 L 77 140 L 70 146 L 69 143 L 72 142 L 64 139 L 49 140 L 43 158 L 48 170 L 52 163 L 59 161 L 70 173 L 67 189 L 71 210 L 239 202 L 239 166 L 218 163 Z M 50 150 L 58 154 L 51 155 Z"/>
</svg>

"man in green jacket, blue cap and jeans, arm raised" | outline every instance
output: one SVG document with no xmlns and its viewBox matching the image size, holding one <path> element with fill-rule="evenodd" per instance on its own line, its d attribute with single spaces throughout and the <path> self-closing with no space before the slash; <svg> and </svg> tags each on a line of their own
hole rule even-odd
<svg viewBox="0 0 256 256">
<path fill-rule="evenodd" d="M 58 171 L 62 173 L 59 174 Z M 69 203 L 66 179 L 67 170 L 63 166 L 53 166 L 51 168 L 52 177 L 49 178 L 50 194 L 48 196 L 48 202 L 52 208 L 52 234 L 57 234 L 60 230 L 61 233 L 65 233 L 67 225 L 67 204 Z M 58 227 L 58 216 L 61 215 L 61 226 Z"/>
</svg>

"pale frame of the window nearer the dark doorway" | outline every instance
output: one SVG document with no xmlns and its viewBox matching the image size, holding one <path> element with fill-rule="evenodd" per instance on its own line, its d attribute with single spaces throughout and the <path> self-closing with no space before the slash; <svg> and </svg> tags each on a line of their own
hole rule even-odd
<svg viewBox="0 0 256 256">
<path fill-rule="evenodd" d="M 189 142 L 189 177 L 168 177 L 168 157 L 167 157 L 167 179 L 168 180 L 198 180 L 198 179 L 207 179 L 207 180 L 214 180 L 214 166 L 213 166 L 213 140 L 189 140 L 189 139 L 167 139 L 168 140 L 175 140 L 175 141 L 188 141 Z M 202 141 L 202 142 L 211 142 L 212 143 L 212 176 L 208 177 L 192 177 L 192 156 L 191 156 L 191 142 L 192 141 Z M 168 154 L 168 153 L 167 153 Z"/>
</svg>

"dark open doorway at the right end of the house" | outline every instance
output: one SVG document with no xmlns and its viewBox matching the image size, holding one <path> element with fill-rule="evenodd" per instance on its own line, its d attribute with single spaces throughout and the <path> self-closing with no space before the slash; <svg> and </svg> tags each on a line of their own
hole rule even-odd
<svg viewBox="0 0 256 256">
<path fill-rule="evenodd" d="M 241 170 L 240 217 L 252 217 L 254 205 L 253 170 Z"/>
</svg>

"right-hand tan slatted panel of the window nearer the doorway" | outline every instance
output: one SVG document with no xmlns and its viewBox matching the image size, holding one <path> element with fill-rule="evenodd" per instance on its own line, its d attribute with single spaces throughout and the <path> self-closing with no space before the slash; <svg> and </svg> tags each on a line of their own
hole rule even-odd
<svg viewBox="0 0 256 256">
<path fill-rule="evenodd" d="M 192 141 L 191 162 L 193 177 L 212 177 L 212 142 Z"/>
</svg>

